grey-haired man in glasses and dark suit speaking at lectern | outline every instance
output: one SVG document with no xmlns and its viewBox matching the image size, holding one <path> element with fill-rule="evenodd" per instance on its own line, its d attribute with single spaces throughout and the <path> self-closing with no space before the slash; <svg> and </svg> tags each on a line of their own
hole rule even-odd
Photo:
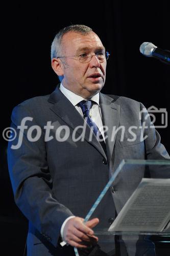
<svg viewBox="0 0 170 256">
<path fill-rule="evenodd" d="M 62 29 L 52 44 L 52 68 L 60 85 L 51 95 L 13 110 L 17 136 L 9 143 L 8 164 L 15 202 L 29 220 L 29 256 L 71 255 L 72 246 L 85 252 L 98 242 L 93 227 L 109 227 L 144 176 L 141 168 L 128 187 L 126 177 L 120 179 L 85 225 L 88 210 L 120 161 L 169 160 L 141 103 L 100 93 L 108 57 L 90 28 Z M 70 246 L 60 248 L 61 238 Z"/>
</svg>

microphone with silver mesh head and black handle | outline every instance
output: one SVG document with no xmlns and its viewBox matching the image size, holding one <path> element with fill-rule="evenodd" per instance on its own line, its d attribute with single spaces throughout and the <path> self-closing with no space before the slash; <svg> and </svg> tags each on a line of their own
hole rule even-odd
<svg viewBox="0 0 170 256">
<path fill-rule="evenodd" d="M 162 50 L 152 44 L 152 42 L 143 42 L 139 50 L 144 56 L 157 58 L 170 65 L 170 51 Z"/>
</svg>

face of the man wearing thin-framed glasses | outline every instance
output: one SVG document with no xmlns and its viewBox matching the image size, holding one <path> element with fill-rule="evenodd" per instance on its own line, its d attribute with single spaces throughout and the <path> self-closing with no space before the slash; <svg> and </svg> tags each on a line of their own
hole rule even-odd
<svg viewBox="0 0 170 256">
<path fill-rule="evenodd" d="M 105 48 L 94 32 L 82 35 L 76 32 L 68 32 L 62 38 L 62 56 L 82 54 L 96 54 Z M 105 83 L 106 58 L 100 62 L 93 56 L 87 63 L 81 63 L 78 58 L 60 58 L 63 72 L 62 84 L 68 90 L 89 98 L 99 92 Z"/>
</svg>

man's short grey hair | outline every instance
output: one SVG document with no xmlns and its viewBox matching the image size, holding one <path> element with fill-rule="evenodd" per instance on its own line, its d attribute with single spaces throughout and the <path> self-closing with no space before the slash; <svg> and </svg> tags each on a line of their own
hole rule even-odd
<svg viewBox="0 0 170 256">
<path fill-rule="evenodd" d="M 87 35 L 92 31 L 92 29 L 85 25 L 70 25 L 68 27 L 61 29 L 56 34 L 56 36 L 52 42 L 51 59 L 56 58 L 61 55 L 61 42 L 62 42 L 63 35 L 70 31 L 74 31 L 74 32 L 80 33 L 82 35 Z"/>
</svg>

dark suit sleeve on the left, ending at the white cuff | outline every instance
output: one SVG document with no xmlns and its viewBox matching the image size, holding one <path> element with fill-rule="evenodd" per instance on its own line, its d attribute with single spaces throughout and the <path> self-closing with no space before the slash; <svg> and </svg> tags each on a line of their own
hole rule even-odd
<svg viewBox="0 0 170 256">
<path fill-rule="evenodd" d="M 16 106 L 11 119 L 16 138 L 8 144 L 8 167 L 15 202 L 35 228 L 56 246 L 62 223 L 72 212 L 53 195 L 44 132 L 25 106 Z"/>
</svg>

